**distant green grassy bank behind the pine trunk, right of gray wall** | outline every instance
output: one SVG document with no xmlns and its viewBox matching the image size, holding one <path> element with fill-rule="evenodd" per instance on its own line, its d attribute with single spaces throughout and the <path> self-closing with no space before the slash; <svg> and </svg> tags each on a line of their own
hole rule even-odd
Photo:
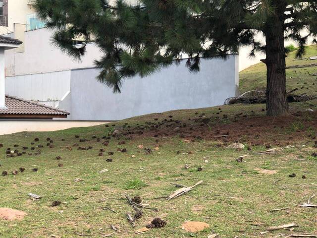
<svg viewBox="0 0 317 238">
<path fill-rule="evenodd" d="M 290 53 L 290 55 L 286 58 L 286 66 L 317 63 L 317 60 L 294 60 L 294 56 L 295 52 Z M 316 46 L 308 47 L 304 58 L 311 56 L 317 56 Z M 313 76 L 313 73 L 317 73 L 317 67 L 286 69 L 287 91 L 299 88 L 300 90 L 296 91 L 296 94 L 308 93 L 309 95 L 316 95 L 317 76 Z M 241 93 L 250 90 L 265 90 L 265 87 L 266 66 L 264 63 L 258 63 L 240 72 Z"/>
</svg>

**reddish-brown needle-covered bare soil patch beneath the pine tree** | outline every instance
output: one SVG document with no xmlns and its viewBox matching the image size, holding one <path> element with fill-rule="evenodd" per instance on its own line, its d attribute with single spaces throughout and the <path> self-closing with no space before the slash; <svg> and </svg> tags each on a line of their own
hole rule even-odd
<svg viewBox="0 0 317 238">
<path fill-rule="evenodd" d="M 237 114 L 223 123 L 222 117 L 211 118 L 195 115 L 192 119 L 147 122 L 147 128 L 136 127 L 125 130 L 127 135 L 134 137 L 168 137 L 180 136 L 186 141 L 201 139 L 217 141 L 219 146 L 229 143 L 248 143 L 248 145 L 287 146 L 317 141 L 313 128 L 316 130 L 317 112 L 297 112 L 283 117 L 256 117 Z M 208 119 L 208 121 L 206 120 Z M 206 123 L 208 122 L 208 123 Z M 311 128 L 311 129 L 309 129 Z M 177 130 L 176 130 L 177 129 Z M 317 143 L 317 142 L 316 142 Z M 252 149 L 252 148 L 250 148 Z"/>
</svg>

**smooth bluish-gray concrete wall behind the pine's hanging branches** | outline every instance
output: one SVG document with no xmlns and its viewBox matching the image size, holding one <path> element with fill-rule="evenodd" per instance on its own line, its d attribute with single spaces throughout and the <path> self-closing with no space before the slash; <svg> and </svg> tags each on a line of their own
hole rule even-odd
<svg viewBox="0 0 317 238">
<path fill-rule="evenodd" d="M 69 119 L 116 120 L 177 109 L 222 105 L 235 96 L 238 56 L 227 60 L 201 60 L 201 71 L 189 72 L 182 60 L 153 75 L 127 79 L 121 94 L 96 80 L 98 70 L 71 71 Z M 71 105 L 71 106 L 70 106 Z M 71 108 L 68 108 L 71 107 Z"/>
</svg>

